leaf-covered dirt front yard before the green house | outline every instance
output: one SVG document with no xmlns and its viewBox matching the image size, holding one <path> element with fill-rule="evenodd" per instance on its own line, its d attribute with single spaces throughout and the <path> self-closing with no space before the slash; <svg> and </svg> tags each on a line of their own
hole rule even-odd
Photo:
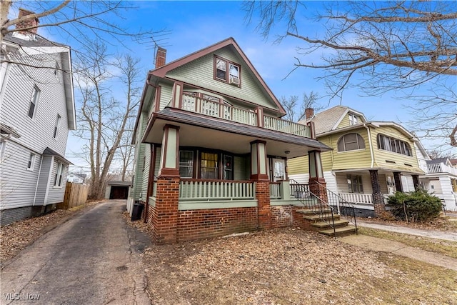
<svg viewBox="0 0 457 305">
<path fill-rule="evenodd" d="M 457 304 L 456 271 L 300 229 L 152 246 L 144 263 L 153 304 Z"/>
</svg>

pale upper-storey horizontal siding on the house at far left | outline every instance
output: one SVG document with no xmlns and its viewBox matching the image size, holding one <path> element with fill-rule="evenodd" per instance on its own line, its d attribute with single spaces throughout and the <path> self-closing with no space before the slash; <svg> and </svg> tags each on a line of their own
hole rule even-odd
<svg viewBox="0 0 457 305">
<path fill-rule="evenodd" d="M 54 75 L 54 66 L 61 64 L 60 54 L 43 54 L 34 58 L 24 58 L 27 64 L 51 66 L 33 68 L 31 66 L 10 65 L 9 77 L 4 90 L 0 121 L 14 127 L 21 134 L 18 143 L 42 152 L 46 147 L 62 156 L 65 154 L 69 134 L 64 82 Z M 41 90 L 34 119 L 29 118 L 29 106 L 34 86 Z M 57 114 L 61 116 L 57 139 L 54 139 L 54 126 Z"/>
</svg>

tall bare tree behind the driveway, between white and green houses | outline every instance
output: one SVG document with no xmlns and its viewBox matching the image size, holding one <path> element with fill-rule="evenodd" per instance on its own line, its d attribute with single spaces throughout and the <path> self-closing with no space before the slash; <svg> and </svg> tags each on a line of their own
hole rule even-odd
<svg viewBox="0 0 457 305">
<path fill-rule="evenodd" d="M 85 139 L 82 157 L 91 166 L 89 198 L 103 197 L 106 177 L 121 145 L 126 126 L 139 104 L 137 85 L 139 60 L 123 56 L 113 60 L 106 46 L 100 41 L 86 45 L 86 56 L 79 56 L 75 63 L 76 82 L 81 94 L 79 130 L 75 132 Z M 118 73 L 116 76 L 114 72 Z M 125 99 L 114 99 L 109 86 L 115 78 L 125 88 Z"/>
</svg>

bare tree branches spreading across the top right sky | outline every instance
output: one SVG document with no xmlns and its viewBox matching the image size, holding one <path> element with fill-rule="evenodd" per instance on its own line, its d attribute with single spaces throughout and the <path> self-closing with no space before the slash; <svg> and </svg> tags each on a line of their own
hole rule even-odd
<svg viewBox="0 0 457 305">
<path fill-rule="evenodd" d="M 294 69 L 326 71 L 322 79 L 333 97 L 341 98 L 343 90 L 352 85 L 369 96 L 393 90 L 410 98 L 433 81 L 452 84 L 451 90 L 441 90 L 446 96 L 434 96 L 436 106 L 455 101 L 457 6 L 452 1 L 334 1 L 322 5 L 326 6 L 313 16 L 301 10 L 300 1 L 245 1 L 244 8 L 249 22 L 259 17 L 257 29 L 265 37 L 282 21 L 285 29 L 278 42 L 289 36 L 303 43 Z M 296 16 L 318 21 L 322 34 L 308 36 L 308 29 L 298 29 Z M 321 61 L 308 62 L 306 55 L 316 52 L 322 54 Z M 433 119 L 436 112 L 429 111 L 427 118 Z M 448 124 L 453 132 L 446 138 L 448 144 L 457 146 L 457 114 L 452 114 Z M 432 129 L 439 126 L 441 122 L 435 121 Z"/>
</svg>

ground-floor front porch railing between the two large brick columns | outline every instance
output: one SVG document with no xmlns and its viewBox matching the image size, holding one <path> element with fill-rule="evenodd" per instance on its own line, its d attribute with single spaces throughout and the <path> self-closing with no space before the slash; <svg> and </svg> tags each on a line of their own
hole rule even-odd
<svg viewBox="0 0 457 305">
<path fill-rule="evenodd" d="M 243 200 L 254 199 L 252 181 L 181 180 L 179 200 Z"/>
</svg>

